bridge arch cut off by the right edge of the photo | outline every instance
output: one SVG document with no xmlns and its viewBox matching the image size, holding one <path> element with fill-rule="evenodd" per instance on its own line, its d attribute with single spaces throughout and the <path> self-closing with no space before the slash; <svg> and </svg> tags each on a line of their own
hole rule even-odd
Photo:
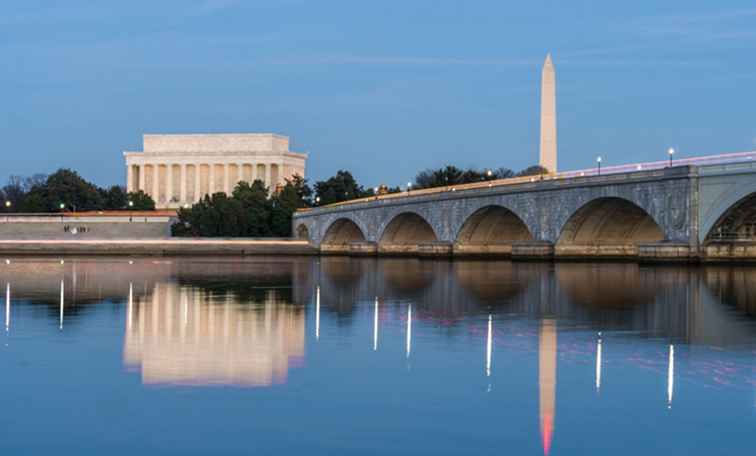
<svg viewBox="0 0 756 456">
<path fill-rule="evenodd" d="M 700 233 L 704 241 L 756 240 L 756 188 L 750 190 L 728 192 L 710 211 L 711 216 L 703 221 Z"/>
</svg>

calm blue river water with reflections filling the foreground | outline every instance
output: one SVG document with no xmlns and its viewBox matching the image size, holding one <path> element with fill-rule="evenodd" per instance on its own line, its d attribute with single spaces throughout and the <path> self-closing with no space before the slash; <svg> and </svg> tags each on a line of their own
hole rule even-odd
<svg viewBox="0 0 756 456">
<path fill-rule="evenodd" d="M 10 259 L 0 452 L 746 452 L 754 279 L 729 266 Z"/>
</svg>

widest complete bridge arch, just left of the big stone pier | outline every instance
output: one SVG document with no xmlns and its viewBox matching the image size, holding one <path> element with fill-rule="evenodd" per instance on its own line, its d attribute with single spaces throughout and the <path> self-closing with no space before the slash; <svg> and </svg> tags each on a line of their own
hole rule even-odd
<svg viewBox="0 0 756 456">
<path fill-rule="evenodd" d="M 612 248 L 617 254 L 634 254 L 636 245 L 665 238 L 662 224 L 638 204 L 619 197 L 593 199 L 562 225 L 557 247 Z M 595 253 L 595 252 L 594 252 Z"/>
</svg>

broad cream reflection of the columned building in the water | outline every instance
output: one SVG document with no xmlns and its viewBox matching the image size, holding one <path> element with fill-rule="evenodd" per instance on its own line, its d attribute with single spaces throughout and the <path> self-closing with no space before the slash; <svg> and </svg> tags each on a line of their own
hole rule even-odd
<svg viewBox="0 0 756 456">
<path fill-rule="evenodd" d="M 124 364 L 145 384 L 268 386 L 304 359 L 304 312 L 268 290 L 263 302 L 156 283 L 130 287 Z"/>
</svg>

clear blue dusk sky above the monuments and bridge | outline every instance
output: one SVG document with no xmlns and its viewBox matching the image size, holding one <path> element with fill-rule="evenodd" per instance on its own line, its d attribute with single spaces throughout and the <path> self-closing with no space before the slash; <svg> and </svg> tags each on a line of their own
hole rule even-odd
<svg viewBox="0 0 756 456">
<path fill-rule="evenodd" d="M 548 52 L 562 170 L 756 149 L 753 0 L 4 0 L 0 183 L 124 184 L 145 133 L 284 134 L 310 181 L 518 170 Z"/>
</svg>

